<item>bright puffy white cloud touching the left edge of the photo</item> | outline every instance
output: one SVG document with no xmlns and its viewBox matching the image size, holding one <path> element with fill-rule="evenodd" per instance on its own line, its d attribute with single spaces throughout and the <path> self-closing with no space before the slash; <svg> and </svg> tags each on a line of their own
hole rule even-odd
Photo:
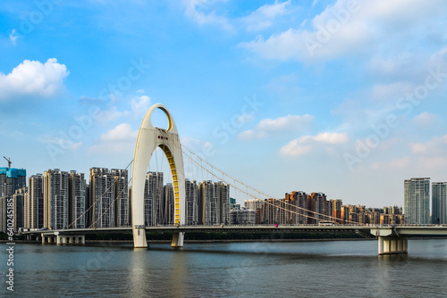
<svg viewBox="0 0 447 298">
<path fill-rule="evenodd" d="M 55 58 L 45 63 L 25 60 L 7 75 L 0 72 L 0 100 L 58 95 L 63 90 L 63 79 L 69 73 Z"/>
</svg>

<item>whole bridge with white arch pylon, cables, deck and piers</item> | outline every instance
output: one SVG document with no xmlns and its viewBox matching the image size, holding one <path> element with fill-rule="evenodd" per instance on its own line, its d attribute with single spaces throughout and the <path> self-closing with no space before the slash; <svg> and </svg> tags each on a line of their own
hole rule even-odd
<svg viewBox="0 0 447 298">
<path fill-rule="evenodd" d="M 151 116 L 156 109 L 160 109 L 164 112 L 168 120 L 168 128 L 155 128 L 152 126 Z M 145 213 L 144 213 L 144 187 L 145 176 L 147 174 L 149 161 L 152 154 L 156 151 L 156 148 L 160 148 L 169 164 L 173 181 L 173 197 L 174 197 L 174 225 L 173 226 L 145 226 Z M 189 154 L 188 154 L 188 153 Z M 185 225 L 185 175 L 183 169 L 183 155 L 190 158 L 190 161 L 195 162 L 198 167 L 202 167 L 201 163 L 206 163 L 213 170 L 207 170 L 207 172 L 215 178 L 228 183 L 242 194 L 248 195 L 251 198 L 258 199 L 260 196 L 272 198 L 270 195 L 258 191 L 257 189 L 244 184 L 243 182 L 233 178 L 232 176 L 224 173 L 222 170 L 216 169 L 207 161 L 201 159 L 198 154 L 193 153 L 186 146 L 180 142 L 180 137 L 177 131 L 177 127 L 173 120 L 171 112 L 161 103 L 156 103 L 148 109 L 144 116 L 141 126 L 139 128 L 139 135 L 135 145 L 135 153 L 132 166 L 132 177 L 128 181 L 131 182 L 131 227 L 122 228 L 96 228 L 96 223 L 93 222 L 89 228 L 70 228 L 76 220 L 80 219 L 89 210 L 86 210 L 78 219 L 75 219 L 65 229 L 59 230 L 32 230 L 25 231 L 23 234 L 27 236 L 41 237 L 42 243 L 55 243 L 55 244 L 85 244 L 85 235 L 92 233 L 129 233 L 133 235 L 134 247 L 148 247 L 148 241 L 146 239 L 146 232 L 169 232 L 173 234 L 172 247 L 183 246 L 183 239 L 185 233 L 191 232 L 242 232 L 242 233 L 292 233 L 292 232 L 313 232 L 313 233 L 340 233 L 340 232 L 352 232 L 363 235 L 371 234 L 378 239 L 378 253 L 390 254 L 390 253 L 407 253 L 408 252 L 408 236 L 447 236 L 447 225 L 445 226 L 371 226 L 360 225 L 354 223 L 353 225 L 341 225 L 338 220 L 333 216 L 318 213 L 316 211 L 309 211 L 298 205 L 286 203 L 281 201 L 283 205 L 277 205 L 271 202 L 271 200 L 264 200 L 266 204 L 271 204 L 275 209 L 288 211 L 294 214 L 295 217 L 306 217 L 316 219 L 316 222 L 324 221 L 329 223 L 328 225 L 249 225 L 249 226 L 186 226 Z M 194 160 L 195 156 L 199 161 Z M 128 165 L 128 167 L 131 165 Z M 127 167 L 126 167 L 127 170 Z M 219 176 L 216 173 L 219 173 Z M 226 179 L 226 181 L 225 181 Z M 229 181 L 234 181 L 232 184 Z M 236 186 L 236 182 L 239 186 Z M 243 186 L 243 187 L 240 187 Z M 241 189 L 244 188 L 245 190 Z M 251 195 L 248 189 L 255 191 L 259 196 Z M 119 194 L 120 195 L 120 194 Z M 118 195 L 118 196 L 119 196 Z M 117 197 L 118 197 L 117 196 Z M 116 200 L 116 199 L 115 199 Z M 280 201 L 274 199 L 276 201 Z M 94 204 L 96 204 L 95 201 Z M 113 202 L 114 203 L 114 202 Z M 112 203 L 112 204 L 113 204 Z M 89 207 L 91 208 L 91 206 Z M 109 207 L 110 208 L 110 207 Z M 312 214 L 309 214 L 312 213 Z M 104 215 L 104 213 L 102 214 Z M 101 215 L 101 216 L 102 216 Z M 100 217 L 101 217 L 100 216 Z M 99 218 L 100 218 L 99 217 Z"/>
</svg>

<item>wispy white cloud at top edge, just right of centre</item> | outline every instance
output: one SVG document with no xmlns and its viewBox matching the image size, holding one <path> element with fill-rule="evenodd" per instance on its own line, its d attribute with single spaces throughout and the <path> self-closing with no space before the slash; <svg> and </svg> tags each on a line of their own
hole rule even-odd
<svg viewBox="0 0 447 298">
<path fill-rule="evenodd" d="M 275 18 L 282 16 L 288 12 L 291 6 L 291 0 L 279 3 L 278 0 L 274 4 L 265 4 L 259 7 L 255 12 L 251 12 L 249 16 L 242 19 L 248 24 L 249 31 L 266 29 L 273 25 Z"/>
</svg>

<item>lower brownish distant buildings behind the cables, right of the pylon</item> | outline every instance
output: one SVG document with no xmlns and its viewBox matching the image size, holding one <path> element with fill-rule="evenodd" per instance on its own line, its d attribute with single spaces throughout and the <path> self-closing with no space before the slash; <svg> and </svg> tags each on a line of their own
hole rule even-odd
<svg viewBox="0 0 447 298">
<path fill-rule="evenodd" d="M 302 191 L 285 194 L 282 200 L 246 200 L 245 207 L 254 211 L 254 224 L 316 225 L 336 224 L 402 224 L 401 208 L 366 208 L 361 205 L 343 205 L 342 200 L 327 200 L 323 193 L 310 195 Z"/>
</svg>

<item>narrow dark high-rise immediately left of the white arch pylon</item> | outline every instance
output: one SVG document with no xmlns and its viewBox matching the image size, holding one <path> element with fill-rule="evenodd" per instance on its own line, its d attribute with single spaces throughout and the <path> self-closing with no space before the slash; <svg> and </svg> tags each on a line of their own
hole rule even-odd
<svg viewBox="0 0 447 298">
<path fill-rule="evenodd" d="M 128 195 L 128 172 L 127 170 L 111 170 L 114 178 L 114 210 L 115 226 L 126 227 L 131 223 L 129 221 L 129 195 Z"/>
</svg>

